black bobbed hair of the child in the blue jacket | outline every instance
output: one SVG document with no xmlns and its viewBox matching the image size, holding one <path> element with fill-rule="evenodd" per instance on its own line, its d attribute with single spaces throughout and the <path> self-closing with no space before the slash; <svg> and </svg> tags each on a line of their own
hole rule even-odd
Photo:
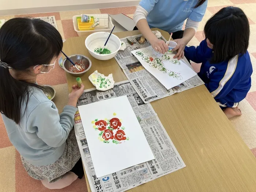
<svg viewBox="0 0 256 192">
<path fill-rule="evenodd" d="M 246 53 L 250 27 L 245 13 L 238 7 L 225 7 L 204 26 L 204 35 L 213 44 L 211 63 L 219 63 Z"/>
</svg>

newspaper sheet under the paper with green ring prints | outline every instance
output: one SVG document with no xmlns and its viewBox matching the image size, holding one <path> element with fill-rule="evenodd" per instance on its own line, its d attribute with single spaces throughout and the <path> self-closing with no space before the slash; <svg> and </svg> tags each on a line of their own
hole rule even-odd
<svg viewBox="0 0 256 192">
<path fill-rule="evenodd" d="M 179 93 L 181 91 L 204 84 L 203 80 L 196 75 L 180 85 L 167 90 L 153 75 L 150 74 L 150 72 L 148 72 L 142 66 L 142 64 L 140 64 L 139 60 L 131 53 L 132 50 L 151 46 L 147 40 L 143 44 L 140 44 L 139 40 L 141 36 L 142 35 L 140 34 L 120 39 L 121 41 L 125 42 L 127 48 L 124 51 L 118 51 L 115 59 L 123 69 L 124 74 L 131 82 L 133 88 L 143 99 L 144 103 L 150 103 L 151 101 L 155 101 L 157 99 L 173 95 L 174 93 Z M 127 39 L 133 42 L 133 45 L 130 45 Z M 166 42 L 166 39 L 163 36 L 160 39 Z M 188 64 L 184 59 L 181 60 L 192 68 L 191 65 Z"/>
</svg>

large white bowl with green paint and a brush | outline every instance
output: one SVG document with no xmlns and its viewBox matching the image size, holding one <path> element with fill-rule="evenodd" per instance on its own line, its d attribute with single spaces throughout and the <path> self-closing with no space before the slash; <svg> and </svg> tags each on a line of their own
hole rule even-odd
<svg viewBox="0 0 256 192">
<path fill-rule="evenodd" d="M 94 49 L 96 48 L 102 48 L 108 39 L 110 33 L 108 32 L 96 32 L 93 34 L 90 34 L 85 39 L 85 46 L 88 49 L 91 56 L 93 56 L 95 59 L 99 60 L 109 60 L 112 59 L 114 56 L 116 56 L 118 50 L 121 48 L 121 41 L 120 39 L 114 35 L 111 34 L 109 37 L 109 41 L 106 45 L 106 48 L 111 50 L 110 54 L 99 54 L 95 53 Z"/>
</svg>

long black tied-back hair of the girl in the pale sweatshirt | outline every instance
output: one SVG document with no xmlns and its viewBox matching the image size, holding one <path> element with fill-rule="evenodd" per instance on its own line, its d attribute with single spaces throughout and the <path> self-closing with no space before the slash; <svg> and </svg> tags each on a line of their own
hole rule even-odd
<svg viewBox="0 0 256 192">
<path fill-rule="evenodd" d="M 63 41 L 60 33 L 39 19 L 14 18 L 0 28 L 0 61 L 16 72 L 27 72 L 35 65 L 50 64 L 60 54 Z M 19 124 L 22 103 L 29 99 L 29 87 L 38 87 L 26 80 L 17 80 L 9 68 L 0 66 L 0 112 Z"/>
</svg>

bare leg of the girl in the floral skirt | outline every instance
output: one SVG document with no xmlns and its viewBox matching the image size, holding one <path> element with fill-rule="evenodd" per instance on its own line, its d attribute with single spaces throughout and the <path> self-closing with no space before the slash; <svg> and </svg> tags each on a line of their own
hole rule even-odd
<svg viewBox="0 0 256 192">
<path fill-rule="evenodd" d="M 78 176 L 75 173 L 67 172 L 59 181 L 52 182 L 52 183 L 49 183 L 48 181 L 41 181 L 41 182 L 48 189 L 62 189 L 70 185 L 77 178 Z"/>
</svg>

